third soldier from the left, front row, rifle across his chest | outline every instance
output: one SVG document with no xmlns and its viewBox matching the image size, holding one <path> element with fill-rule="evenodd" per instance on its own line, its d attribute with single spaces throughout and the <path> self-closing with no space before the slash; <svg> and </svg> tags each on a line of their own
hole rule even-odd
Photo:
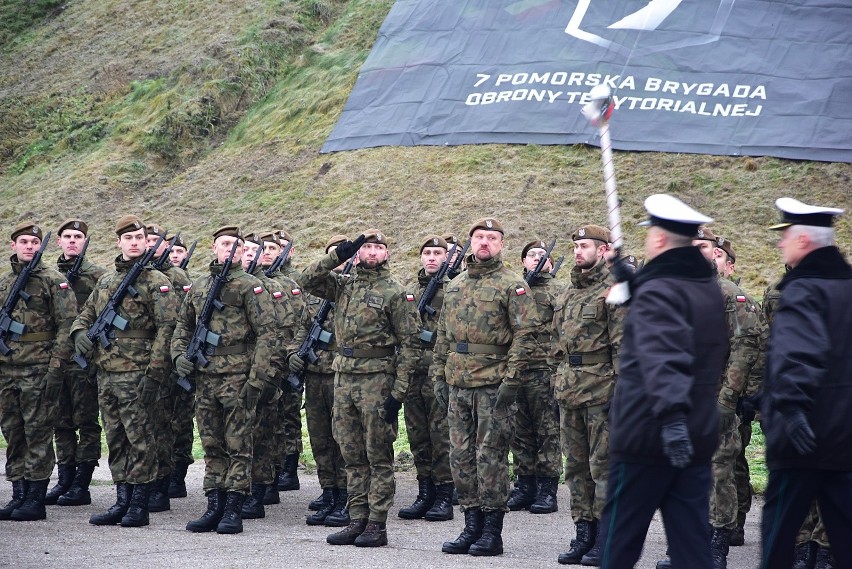
<svg viewBox="0 0 852 569">
<path fill-rule="evenodd" d="M 117 307 L 128 321 L 127 328 L 110 329 L 107 348 L 92 345 L 86 331 L 147 248 L 145 226 L 135 215 L 119 219 L 115 233 L 121 250 L 115 270 L 98 280 L 71 333 L 77 352 L 98 367 L 98 402 L 116 484 L 116 503 L 107 512 L 93 515 L 89 523 L 138 527 L 148 525 L 148 498 L 157 476 L 156 440 L 151 430 L 163 383 L 171 373 L 169 340 L 177 296 L 165 275 L 146 268 L 133 283 L 138 294 L 128 293 Z"/>
</svg>

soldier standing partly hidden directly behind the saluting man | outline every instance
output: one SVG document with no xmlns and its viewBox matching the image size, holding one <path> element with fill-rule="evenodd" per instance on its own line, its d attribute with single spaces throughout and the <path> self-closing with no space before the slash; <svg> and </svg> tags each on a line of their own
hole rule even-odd
<svg viewBox="0 0 852 569">
<path fill-rule="evenodd" d="M 331 253 L 337 245 L 348 241 L 345 235 L 335 235 L 329 239 L 325 246 L 325 253 Z M 280 249 L 280 247 L 279 247 Z M 271 252 L 272 253 L 272 252 Z M 270 255 L 277 257 L 279 252 Z M 341 263 L 333 270 L 341 274 L 346 263 Z M 296 346 L 301 346 L 313 325 L 323 302 L 318 296 L 306 295 L 306 310 L 302 314 L 301 327 L 296 334 Z M 308 426 L 308 436 L 311 440 L 311 450 L 314 453 L 314 461 L 317 465 L 317 478 L 319 478 L 322 494 L 308 504 L 308 509 L 313 510 L 305 520 L 310 526 L 325 525 L 328 527 L 345 527 L 352 521 L 346 502 L 349 493 L 346 490 L 346 464 L 340 453 L 340 446 L 334 438 L 332 429 L 332 418 L 334 416 L 334 369 L 332 362 L 334 354 L 337 353 L 337 340 L 329 330 L 334 322 L 334 308 L 328 313 L 323 326 L 326 334 L 320 339 L 316 349 L 318 357 L 315 363 L 304 362 L 300 367 L 297 359 L 290 359 L 293 368 L 290 370 L 295 374 L 304 373 L 305 385 L 305 419 Z"/>
</svg>

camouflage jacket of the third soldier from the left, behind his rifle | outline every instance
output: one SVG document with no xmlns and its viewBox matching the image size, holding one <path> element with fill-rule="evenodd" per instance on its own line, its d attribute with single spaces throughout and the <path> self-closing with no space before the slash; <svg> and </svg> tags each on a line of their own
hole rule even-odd
<svg viewBox="0 0 852 569">
<path fill-rule="evenodd" d="M 115 270 L 98 279 L 71 326 L 72 334 L 88 330 L 95 323 L 134 262 L 123 260 L 121 255 L 116 257 Z M 175 326 L 177 295 L 172 292 L 166 275 L 151 268 L 142 271 L 133 286 L 139 295 L 126 294 L 117 308 L 128 321 L 127 329 L 111 329 L 108 333 L 110 346 L 106 349 L 95 342 L 94 363 L 110 372 L 147 370 L 162 381 L 172 368 L 169 341 Z"/>
</svg>

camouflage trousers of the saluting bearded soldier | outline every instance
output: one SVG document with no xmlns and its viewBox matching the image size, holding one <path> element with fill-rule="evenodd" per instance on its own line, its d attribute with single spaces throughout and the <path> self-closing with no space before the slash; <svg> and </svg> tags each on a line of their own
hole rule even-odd
<svg viewBox="0 0 852 569">
<path fill-rule="evenodd" d="M 383 408 L 393 381 L 388 373 L 337 372 L 334 377 L 332 429 L 346 463 L 353 520 L 369 517 L 385 522 L 393 506 L 393 442 L 398 427 L 385 422 Z"/>
</svg>

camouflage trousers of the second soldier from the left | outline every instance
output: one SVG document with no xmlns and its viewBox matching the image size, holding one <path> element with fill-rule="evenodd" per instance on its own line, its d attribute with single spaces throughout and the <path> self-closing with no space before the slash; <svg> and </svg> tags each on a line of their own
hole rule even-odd
<svg viewBox="0 0 852 569">
<path fill-rule="evenodd" d="M 94 373 L 69 364 L 54 425 L 57 464 L 97 462 L 101 458 L 98 382 Z M 91 366 L 94 372 L 95 367 Z M 79 438 L 78 438 L 79 432 Z"/>
</svg>

